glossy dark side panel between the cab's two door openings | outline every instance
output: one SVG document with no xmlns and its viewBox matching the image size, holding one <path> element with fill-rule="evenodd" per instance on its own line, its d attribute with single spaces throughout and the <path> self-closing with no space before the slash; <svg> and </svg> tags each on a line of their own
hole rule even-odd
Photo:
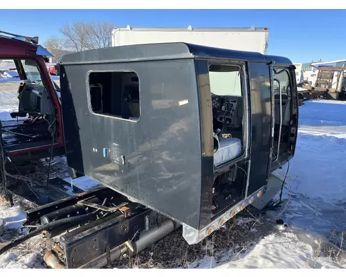
<svg viewBox="0 0 346 277">
<path fill-rule="evenodd" d="M 251 168 L 248 195 L 268 181 L 271 152 L 271 81 L 270 65 L 248 63 L 251 93 Z"/>
</svg>

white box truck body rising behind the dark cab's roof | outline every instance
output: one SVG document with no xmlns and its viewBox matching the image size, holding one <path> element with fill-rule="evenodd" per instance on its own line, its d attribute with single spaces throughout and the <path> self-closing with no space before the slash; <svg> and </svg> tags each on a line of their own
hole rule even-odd
<svg viewBox="0 0 346 277">
<path fill-rule="evenodd" d="M 269 28 L 114 28 L 112 46 L 185 42 L 266 54 Z"/>
</svg>

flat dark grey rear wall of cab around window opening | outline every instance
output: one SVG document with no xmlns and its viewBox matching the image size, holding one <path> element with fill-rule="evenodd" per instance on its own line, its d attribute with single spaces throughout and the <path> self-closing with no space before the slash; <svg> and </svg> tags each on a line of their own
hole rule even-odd
<svg viewBox="0 0 346 277">
<path fill-rule="evenodd" d="M 91 114 L 86 108 L 90 70 L 138 74 L 138 122 Z M 199 229 L 201 141 L 194 60 L 63 65 L 61 76 L 69 166 Z M 188 104 L 179 106 L 181 100 Z M 103 148 L 118 158 L 125 155 L 125 165 L 104 158 Z"/>
</svg>

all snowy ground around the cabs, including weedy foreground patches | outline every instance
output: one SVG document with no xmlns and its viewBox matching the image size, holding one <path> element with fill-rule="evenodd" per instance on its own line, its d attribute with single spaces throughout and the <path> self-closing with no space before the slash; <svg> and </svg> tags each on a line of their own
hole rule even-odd
<svg viewBox="0 0 346 277">
<path fill-rule="evenodd" d="M 6 113 L 17 105 L 15 90 L 6 86 L 8 83 L 0 84 L 1 118 L 6 118 Z M 300 107 L 298 146 L 289 165 L 280 209 L 262 217 L 239 216 L 193 246 L 186 244 L 181 230 L 175 231 L 135 258 L 122 258 L 113 266 L 345 268 L 345 114 L 346 102 L 307 101 Z M 63 162 L 58 161 L 55 167 L 60 163 Z M 287 166 L 276 174 L 284 178 Z M 0 200 L 0 218 L 6 222 L 0 247 L 19 235 L 27 205 L 17 202 L 8 208 Z M 286 226 L 277 225 L 277 219 L 284 220 Z M 33 238 L 0 256 L 0 268 L 45 267 L 42 255 L 51 244 L 51 240 Z"/>
</svg>

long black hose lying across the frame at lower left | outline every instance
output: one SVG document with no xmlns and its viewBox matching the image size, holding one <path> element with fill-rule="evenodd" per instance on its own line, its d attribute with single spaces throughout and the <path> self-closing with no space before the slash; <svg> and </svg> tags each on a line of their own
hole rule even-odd
<svg viewBox="0 0 346 277">
<path fill-rule="evenodd" d="M 48 224 L 45 224 L 44 226 L 37 228 L 35 231 L 28 233 L 17 240 L 13 240 L 9 244 L 6 244 L 4 247 L 0 249 L 0 255 L 12 249 L 13 247 L 17 247 L 17 245 L 21 244 L 22 242 L 25 242 L 26 240 L 35 237 L 35 235 L 39 235 L 39 233 L 41 233 L 42 231 L 46 231 L 48 229 L 54 229 L 58 226 L 61 226 L 62 224 L 67 224 L 71 222 L 83 222 L 83 221 L 89 220 L 89 218 L 95 216 L 95 213 L 97 211 L 98 210 L 93 211 L 92 213 L 89 213 L 87 215 L 78 215 L 75 217 L 68 217 L 68 218 L 63 218 L 62 220 L 49 222 Z"/>
</svg>

